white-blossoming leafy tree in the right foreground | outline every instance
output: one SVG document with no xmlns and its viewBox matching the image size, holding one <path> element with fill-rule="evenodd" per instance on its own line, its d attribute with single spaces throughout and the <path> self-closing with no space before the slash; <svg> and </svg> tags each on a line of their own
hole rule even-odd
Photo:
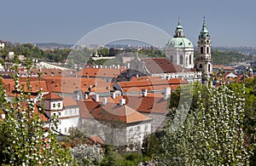
<svg viewBox="0 0 256 166">
<path fill-rule="evenodd" d="M 158 158 L 160 163 L 248 164 L 252 149 L 245 145 L 243 131 L 244 87 L 242 93 L 225 85 L 218 89 L 207 87 L 207 91 L 197 90 L 198 107 L 195 111 L 183 109 L 177 112 L 176 117 L 186 117 L 179 128 L 172 128 L 173 117 L 167 118 L 166 135 L 162 141 L 164 153 Z"/>
</svg>

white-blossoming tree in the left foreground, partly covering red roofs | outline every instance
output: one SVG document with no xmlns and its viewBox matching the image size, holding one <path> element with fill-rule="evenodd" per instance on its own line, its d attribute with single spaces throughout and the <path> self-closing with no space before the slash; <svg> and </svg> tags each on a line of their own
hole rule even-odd
<svg viewBox="0 0 256 166">
<path fill-rule="evenodd" d="M 50 119 L 50 129 L 45 133 L 44 121 L 40 118 L 44 114 L 41 106 L 42 89 L 38 96 L 32 97 L 32 86 L 29 77 L 26 85 L 20 85 L 17 65 L 14 67 L 15 98 L 13 101 L 0 83 L 0 112 L 4 112 L 1 135 L 5 136 L 5 145 L 1 148 L 4 163 L 11 165 L 76 165 L 69 146 L 61 144 L 52 130 L 57 129 L 57 117 Z M 27 71 L 32 74 L 32 63 L 27 64 Z"/>
</svg>

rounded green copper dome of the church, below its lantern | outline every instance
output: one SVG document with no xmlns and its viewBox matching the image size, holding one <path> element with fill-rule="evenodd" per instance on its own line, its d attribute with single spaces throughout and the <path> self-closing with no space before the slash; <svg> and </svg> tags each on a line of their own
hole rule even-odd
<svg viewBox="0 0 256 166">
<path fill-rule="evenodd" d="M 166 48 L 192 48 L 193 43 L 186 37 L 173 37 L 166 43 Z"/>
</svg>

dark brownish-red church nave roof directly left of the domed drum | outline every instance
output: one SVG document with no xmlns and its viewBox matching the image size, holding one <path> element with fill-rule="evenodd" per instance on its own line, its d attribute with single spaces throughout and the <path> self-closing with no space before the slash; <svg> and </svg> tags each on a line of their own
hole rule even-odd
<svg viewBox="0 0 256 166">
<path fill-rule="evenodd" d="M 142 61 L 150 73 L 191 72 L 191 70 L 175 65 L 166 58 L 143 58 Z"/>
</svg>

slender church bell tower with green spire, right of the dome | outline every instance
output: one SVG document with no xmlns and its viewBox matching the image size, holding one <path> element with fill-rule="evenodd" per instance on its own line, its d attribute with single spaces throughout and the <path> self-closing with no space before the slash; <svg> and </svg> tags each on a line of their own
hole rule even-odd
<svg viewBox="0 0 256 166">
<path fill-rule="evenodd" d="M 196 70 L 205 73 L 212 72 L 211 39 L 204 18 L 202 29 L 198 37 L 198 54 L 196 60 Z"/>
</svg>

